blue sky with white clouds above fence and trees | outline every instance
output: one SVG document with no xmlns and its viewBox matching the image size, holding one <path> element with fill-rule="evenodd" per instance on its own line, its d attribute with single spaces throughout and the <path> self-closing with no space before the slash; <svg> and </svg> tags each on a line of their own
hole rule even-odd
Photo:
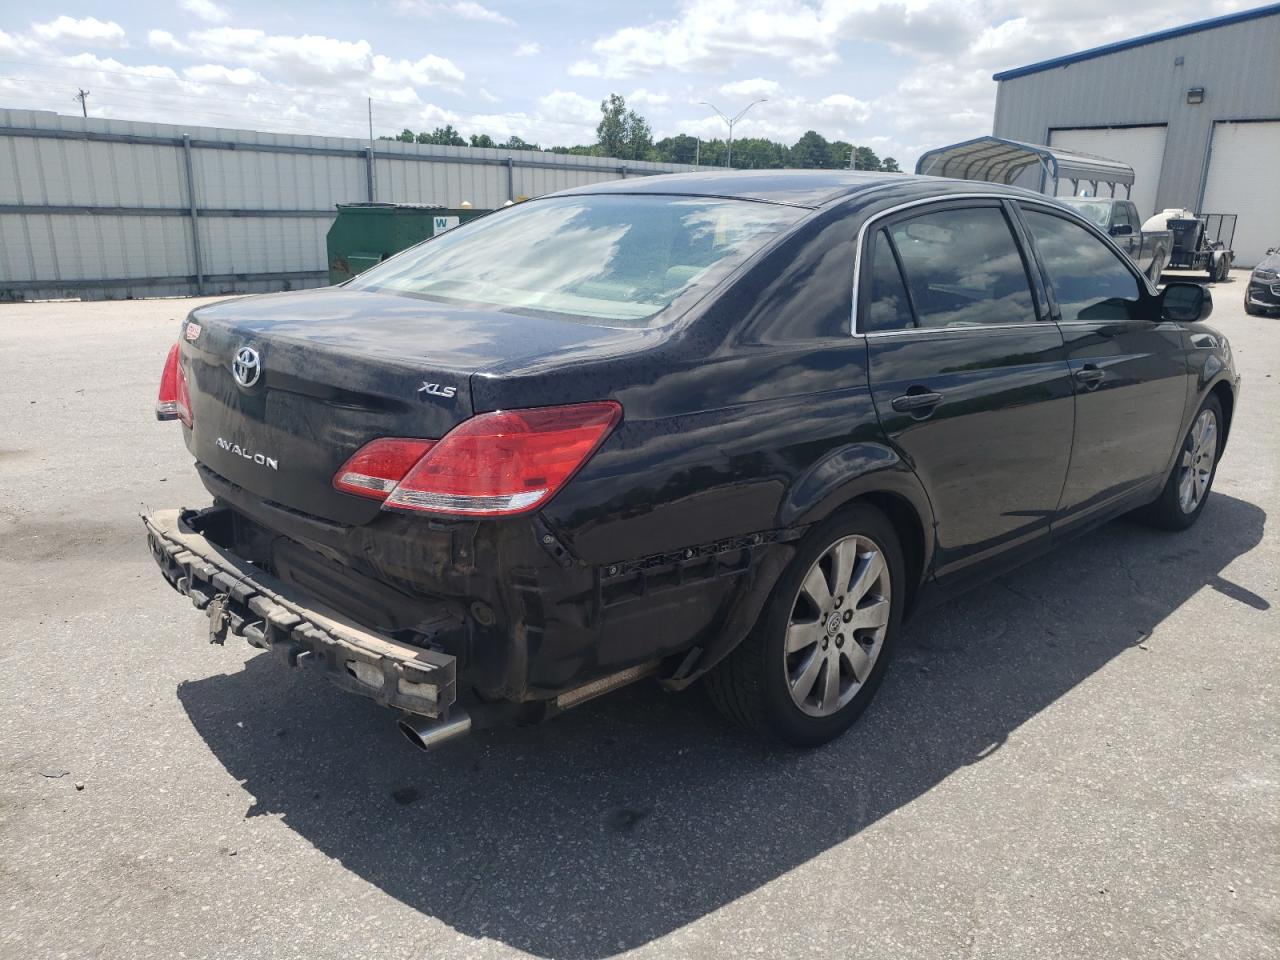
<svg viewBox="0 0 1280 960">
<path fill-rule="evenodd" d="M 995 70 L 1251 4 L 1167 0 L 0 0 L 0 106 L 365 136 L 452 123 L 594 140 L 622 93 L 658 137 L 805 129 L 904 166 L 991 132 Z"/>
</svg>

